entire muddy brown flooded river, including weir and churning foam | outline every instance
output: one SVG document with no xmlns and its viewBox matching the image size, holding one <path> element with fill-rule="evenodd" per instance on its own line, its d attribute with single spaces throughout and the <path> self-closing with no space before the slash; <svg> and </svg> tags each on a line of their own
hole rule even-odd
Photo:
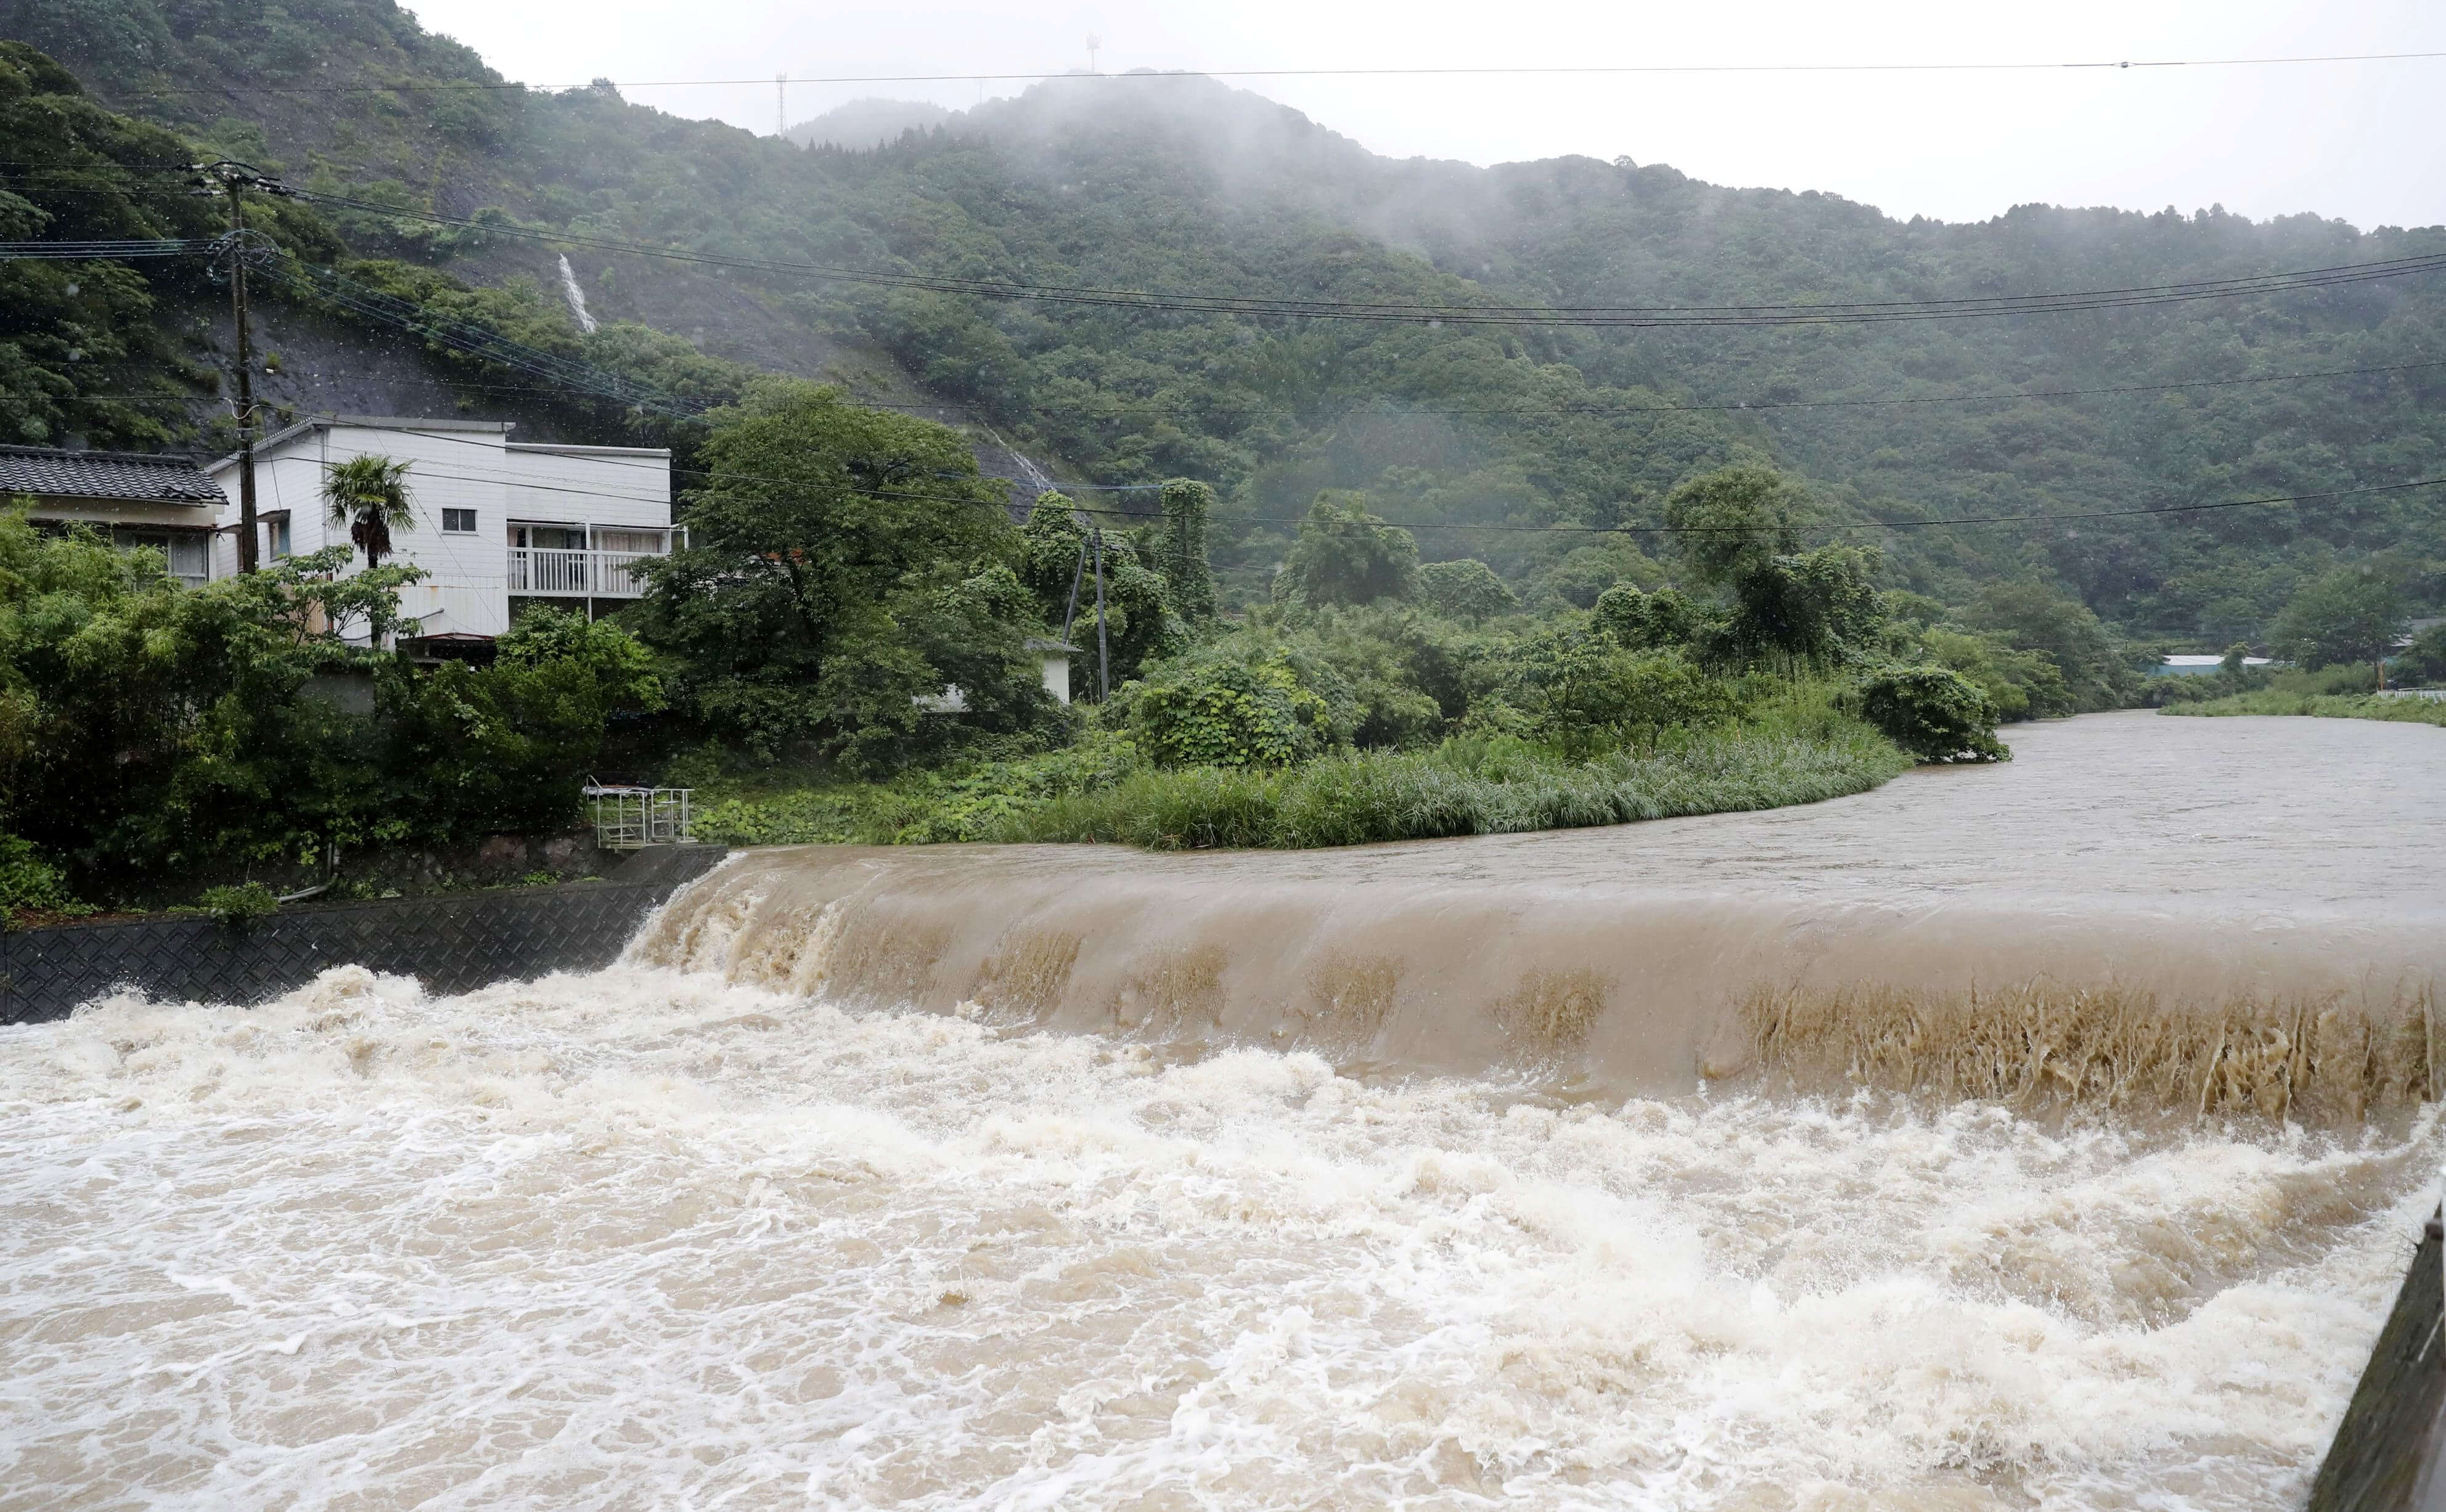
<svg viewBox="0 0 2446 1512">
<path fill-rule="evenodd" d="M 2282 1507 L 2436 1199 L 2446 732 L 739 859 L 0 1030 L 0 1507 Z"/>
</svg>

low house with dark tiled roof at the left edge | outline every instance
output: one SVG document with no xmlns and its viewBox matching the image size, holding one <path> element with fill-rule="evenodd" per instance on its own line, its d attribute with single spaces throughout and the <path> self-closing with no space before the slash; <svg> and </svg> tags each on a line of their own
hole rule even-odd
<svg viewBox="0 0 2446 1512">
<path fill-rule="evenodd" d="M 181 582 L 213 575 L 213 528 L 227 502 L 191 458 L 0 445 L 0 499 L 32 499 L 37 524 L 88 524 L 122 548 L 152 546 Z"/>
</svg>

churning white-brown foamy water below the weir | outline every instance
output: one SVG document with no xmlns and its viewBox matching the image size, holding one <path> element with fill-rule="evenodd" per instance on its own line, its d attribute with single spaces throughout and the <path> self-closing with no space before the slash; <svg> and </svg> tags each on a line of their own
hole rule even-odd
<svg viewBox="0 0 2446 1512">
<path fill-rule="evenodd" d="M 2267 1507 L 2439 1135 L 624 966 L 0 1030 L 0 1507 Z"/>
</svg>

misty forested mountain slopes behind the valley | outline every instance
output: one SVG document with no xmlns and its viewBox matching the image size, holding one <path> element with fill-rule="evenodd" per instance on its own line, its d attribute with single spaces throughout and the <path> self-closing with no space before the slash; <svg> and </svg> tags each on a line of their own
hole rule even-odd
<svg viewBox="0 0 2446 1512">
<path fill-rule="evenodd" d="M 413 215 L 497 208 L 565 235 L 1037 286 L 1553 306 L 1967 298 L 2446 252 L 2446 228 L 2314 215 L 2025 206 L 1940 225 L 1653 164 L 1392 161 L 1179 76 L 1049 81 L 878 149 L 800 149 L 609 86 L 492 88 L 386 0 L 0 0 L 0 37 L 122 110 L 399 210 L 328 210 L 360 254 L 538 279 L 506 296 L 536 323 L 563 321 L 548 245 Z M 1656 575 L 1636 536 L 1521 526 L 1656 524 L 1673 482 L 1727 460 L 1805 475 L 1830 531 L 2446 472 L 2446 367 L 2417 367 L 2446 362 L 2441 274 L 1976 321 L 1578 330 L 724 279 L 587 250 L 572 267 L 607 313 L 868 396 L 915 384 L 1079 480 L 1211 480 L 1240 595 L 1318 489 L 1421 526 L 1428 558 L 1482 555 L 1585 604 Z M 2128 629 L 2221 646 L 2338 558 L 2387 555 L 2436 602 L 2441 526 L 2446 489 L 1857 538 L 1888 546 L 1896 585 L 1949 602 L 2052 577 Z"/>
</svg>

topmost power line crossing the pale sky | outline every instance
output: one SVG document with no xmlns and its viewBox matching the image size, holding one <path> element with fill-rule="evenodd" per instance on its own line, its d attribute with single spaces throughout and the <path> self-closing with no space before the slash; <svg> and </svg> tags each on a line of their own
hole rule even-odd
<svg viewBox="0 0 2446 1512">
<path fill-rule="evenodd" d="M 2289 54 L 2233 59 L 2057 59 L 2057 61 L 1937 61 L 1937 64 L 1458 64 L 1411 69 L 1132 69 L 1128 73 L 1081 73 L 1076 69 L 1040 69 L 1032 73 L 790 73 L 790 83 L 1032 83 L 1079 81 L 1123 83 L 1145 78 L 1573 78 L 1629 73 L 2077 73 L 2130 69 L 2272 69 L 2304 64 L 2404 64 L 2446 59 L 2446 51 L 2358 51 Z M 345 93 L 438 93 L 438 91 L 536 91 L 563 93 L 597 86 L 612 88 L 734 88 L 768 86 L 763 78 L 599 78 L 589 83 L 514 83 L 506 78 L 426 78 L 399 83 L 245 83 L 132 91 L 147 95 L 218 95 L 245 88 L 267 95 L 345 95 Z"/>
</svg>

